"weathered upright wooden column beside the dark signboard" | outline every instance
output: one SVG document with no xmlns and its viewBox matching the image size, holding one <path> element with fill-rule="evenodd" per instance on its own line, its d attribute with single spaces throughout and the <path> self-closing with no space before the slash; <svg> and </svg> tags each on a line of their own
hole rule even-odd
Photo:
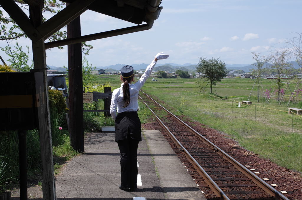
<svg viewBox="0 0 302 200">
<path fill-rule="evenodd" d="M 42 7 L 43 0 L 36 0 L 38 4 L 29 4 L 31 24 L 37 28 L 42 21 Z M 48 86 L 47 86 L 47 72 L 46 72 L 46 54 L 44 39 L 38 42 L 32 42 L 34 69 L 40 69 L 43 72 L 43 85 L 40 87 L 40 101 L 41 112 L 39 113 L 39 134 L 40 134 L 40 148 L 41 148 L 41 161 L 43 173 L 43 199 L 56 200 L 56 184 L 53 172 L 53 148 L 51 142 L 51 127 L 50 127 L 50 110 L 48 101 Z"/>
</svg>

